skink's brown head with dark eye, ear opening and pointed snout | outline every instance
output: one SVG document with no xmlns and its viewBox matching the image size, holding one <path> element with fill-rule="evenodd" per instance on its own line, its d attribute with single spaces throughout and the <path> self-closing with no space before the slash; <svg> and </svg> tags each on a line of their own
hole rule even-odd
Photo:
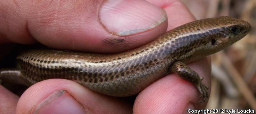
<svg viewBox="0 0 256 114">
<path fill-rule="evenodd" d="M 247 21 L 228 16 L 222 16 L 219 19 L 215 22 L 218 25 L 214 29 L 215 31 L 210 31 L 213 37 L 209 37 L 208 43 L 205 46 L 208 47 L 206 49 L 213 53 L 239 41 L 251 30 L 251 25 Z"/>
</svg>

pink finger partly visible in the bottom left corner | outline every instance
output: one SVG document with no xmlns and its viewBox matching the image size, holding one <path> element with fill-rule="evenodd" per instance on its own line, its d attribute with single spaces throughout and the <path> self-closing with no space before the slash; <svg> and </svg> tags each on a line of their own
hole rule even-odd
<svg viewBox="0 0 256 114">
<path fill-rule="evenodd" d="M 0 85 L 0 113 L 14 114 L 19 97 Z"/>
</svg>

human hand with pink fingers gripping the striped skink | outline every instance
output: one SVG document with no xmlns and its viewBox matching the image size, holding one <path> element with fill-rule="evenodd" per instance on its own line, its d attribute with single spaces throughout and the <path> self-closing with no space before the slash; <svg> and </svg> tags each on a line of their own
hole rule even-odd
<svg viewBox="0 0 256 114">
<path fill-rule="evenodd" d="M 117 53 L 144 45 L 166 29 L 195 20 L 180 1 L 148 2 L 2 1 L 0 42 L 40 42 L 55 49 Z M 210 87 L 210 60 L 203 58 L 189 66 Z M 0 91 L 0 112 L 10 113 L 183 113 L 188 108 L 206 106 L 206 102 L 198 103 L 196 87 L 176 74 L 145 88 L 133 106 L 63 79 L 36 83 L 20 99 L 3 87 Z"/>
</svg>

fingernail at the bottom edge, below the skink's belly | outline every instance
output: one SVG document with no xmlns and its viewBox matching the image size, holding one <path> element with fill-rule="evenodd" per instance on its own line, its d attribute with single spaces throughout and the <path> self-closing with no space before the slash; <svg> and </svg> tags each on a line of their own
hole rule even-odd
<svg viewBox="0 0 256 114">
<path fill-rule="evenodd" d="M 34 114 L 84 114 L 83 107 L 67 91 L 59 90 L 36 106 Z"/>
</svg>

